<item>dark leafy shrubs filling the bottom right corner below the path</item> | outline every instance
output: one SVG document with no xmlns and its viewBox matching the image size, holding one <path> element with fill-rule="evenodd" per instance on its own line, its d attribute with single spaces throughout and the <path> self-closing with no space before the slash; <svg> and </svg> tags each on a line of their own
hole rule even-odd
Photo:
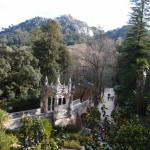
<svg viewBox="0 0 150 150">
<path fill-rule="evenodd" d="M 84 142 L 86 149 L 114 149 L 114 150 L 147 150 L 150 149 L 150 126 L 149 108 L 147 108 L 147 119 L 141 120 L 137 115 L 127 119 L 119 111 L 114 113 L 114 121 L 95 123 L 92 130 L 92 140 Z M 119 110 L 118 108 L 117 110 Z M 104 117 L 106 114 L 104 114 Z M 97 128 L 96 128 L 97 127 Z"/>
</svg>

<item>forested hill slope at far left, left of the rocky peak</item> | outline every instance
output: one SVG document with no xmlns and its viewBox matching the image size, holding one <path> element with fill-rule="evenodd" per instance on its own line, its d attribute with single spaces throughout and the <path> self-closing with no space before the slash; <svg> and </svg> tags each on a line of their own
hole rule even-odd
<svg viewBox="0 0 150 150">
<path fill-rule="evenodd" d="M 35 17 L 16 26 L 9 26 L 9 28 L 5 28 L 0 32 L 0 43 L 12 47 L 13 50 L 17 50 L 22 46 L 28 46 L 30 45 L 30 32 L 35 27 L 42 26 L 46 22 L 47 19 L 45 18 Z"/>
</svg>

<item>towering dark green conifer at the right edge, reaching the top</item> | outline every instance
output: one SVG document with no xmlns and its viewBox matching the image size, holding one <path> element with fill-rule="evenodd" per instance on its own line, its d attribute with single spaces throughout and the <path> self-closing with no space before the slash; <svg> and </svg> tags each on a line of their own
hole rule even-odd
<svg viewBox="0 0 150 150">
<path fill-rule="evenodd" d="M 150 45 L 148 21 L 150 19 L 149 0 L 131 0 L 133 5 L 130 15 L 130 29 L 125 38 L 125 45 L 118 61 L 118 100 L 133 100 L 136 112 L 146 111 L 144 89 L 149 69 Z"/>
</svg>

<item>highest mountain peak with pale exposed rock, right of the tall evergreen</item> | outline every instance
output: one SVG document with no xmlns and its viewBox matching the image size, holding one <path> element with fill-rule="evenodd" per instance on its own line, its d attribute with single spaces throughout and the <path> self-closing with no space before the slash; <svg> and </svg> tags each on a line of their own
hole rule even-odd
<svg viewBox="0 0 150 150">
<path fill-rule="evenodd" d="M 58 20 L 61 25 L 61 32 L 63 34 L 62 41 L 66 45 L 73 45 L 74 43 L 84 43 L 87 40 L 87 31 L 93 31 L 93 29 L 86 23 L 74 19 L 71 15 L 62 15 L 61 17 L 57 17 L 56 20 Z"/>
</svg>

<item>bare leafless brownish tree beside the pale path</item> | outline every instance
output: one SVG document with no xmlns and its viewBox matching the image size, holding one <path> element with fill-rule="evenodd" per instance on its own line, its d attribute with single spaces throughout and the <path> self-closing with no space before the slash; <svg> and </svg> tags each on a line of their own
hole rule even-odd
<svg viewBox="0 0 150 150">
<path fill-rule="evenodd" d="M 104 88 L 111 86 L 116 64 L 115 42 L 109 38 L 100 38 L 91 41 L 85 51 L 80 52 L 79 58 L 82 60 L 80 66 L 80 79 L 82 85 L 94 93 L 95 104 L 101 98 Z M 78 60 L 77 60 L 78 61 Z M 76 63 L 79 63 L 77 62 Z M 75 70 L 75 73 L 77 71 Z M 82 77 L 82 78 L 81 78 Z M 88 85 L 87 85 L 88 83 Z"/>
</svg>

